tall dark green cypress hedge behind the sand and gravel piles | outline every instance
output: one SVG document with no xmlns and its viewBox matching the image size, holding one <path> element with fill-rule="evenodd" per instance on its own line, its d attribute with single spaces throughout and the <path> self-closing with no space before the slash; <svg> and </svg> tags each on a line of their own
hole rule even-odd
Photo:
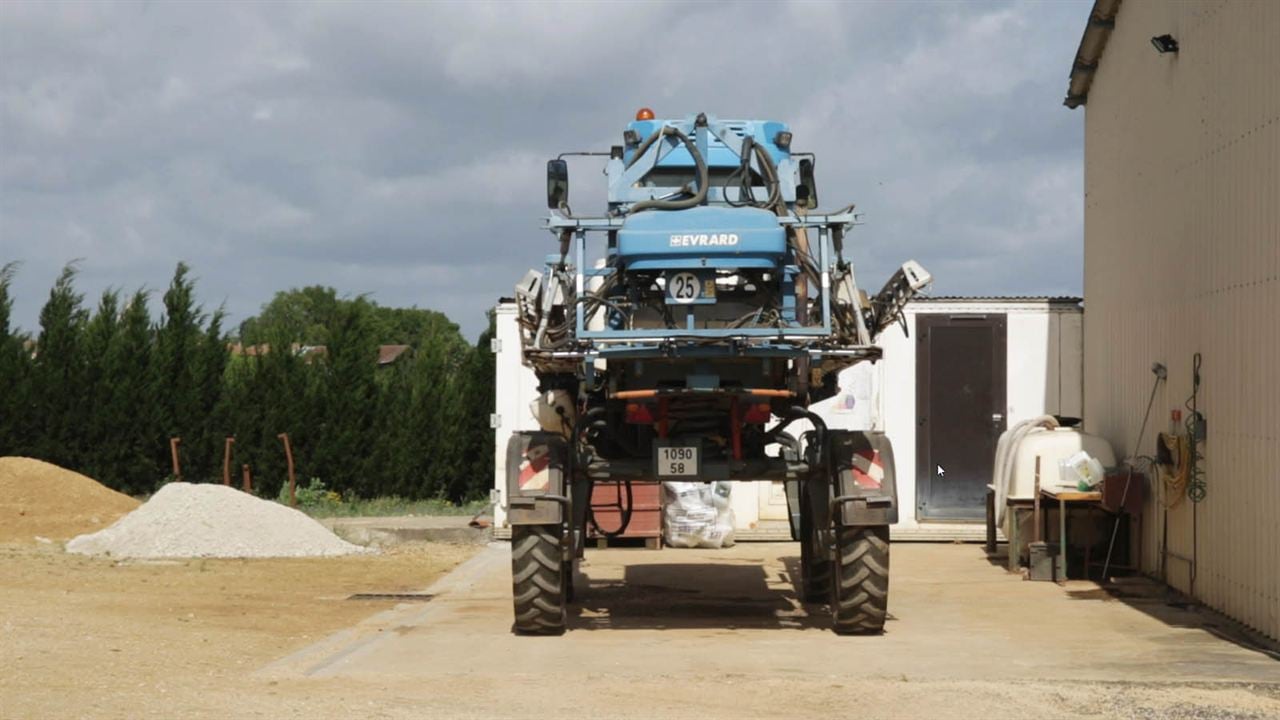
<svg viewBox="0 0 1280 720">
<path fill-rule="evenodd" d="M 344 496 L 462 502 L 492 487 L 493 327 L 476 345 L 447 316 L 339 297 L 334 288 L 279 292 L 224 328 L 179 263 L 151 318 L 145 290 L 109 290 L 92 309 L 76 265 L 58 277 L 35 337 L 12 324 L 17 265 L 0 268 L 0 455 L 84 473 L 133 495 L 172 479 L 232 482 L 250 465 L 255 491 L 287 482 L 288 433 L 298 482 Z M 379 364 L 380 345 L 407 345 Z"/>
</svg>

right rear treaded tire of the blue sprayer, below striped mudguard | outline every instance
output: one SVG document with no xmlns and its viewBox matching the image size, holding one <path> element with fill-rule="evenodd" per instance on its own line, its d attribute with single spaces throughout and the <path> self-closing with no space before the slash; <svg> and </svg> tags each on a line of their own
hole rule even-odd
<svg viewBox="0 0 1280 720">
<path fill-rule="evenodd" d="M 888 525 L 837 525 L 832 570 L 832 629 L 882 632 L 888 612 Z"/>
</svg>

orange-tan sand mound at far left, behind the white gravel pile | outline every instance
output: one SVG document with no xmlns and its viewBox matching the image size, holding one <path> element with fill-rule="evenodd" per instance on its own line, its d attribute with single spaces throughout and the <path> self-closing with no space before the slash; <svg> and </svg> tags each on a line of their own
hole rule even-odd
<svg viewBox="0 0 1280 720">
<path fill-rule="evenodd" d="M 105 528 L 137 506 L 79 473 L 31 457 L 0 457 L 0 542 L 67 539 Z"/>
</svg>

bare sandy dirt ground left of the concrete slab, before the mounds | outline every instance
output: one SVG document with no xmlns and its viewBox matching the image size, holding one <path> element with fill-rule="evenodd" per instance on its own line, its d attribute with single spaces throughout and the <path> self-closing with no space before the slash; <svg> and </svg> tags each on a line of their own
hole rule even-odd
<svg viewBox="0 0 1280 720">
<path fill-rule="evenodd" d="M 0 717 L 288 708 L 285 688 L 251 683 L 250 674 L 394 605 L 351 594 L 420 589 L 475 550 L 114 562 L 58 544 L 0 544 Z"/>
</svg>

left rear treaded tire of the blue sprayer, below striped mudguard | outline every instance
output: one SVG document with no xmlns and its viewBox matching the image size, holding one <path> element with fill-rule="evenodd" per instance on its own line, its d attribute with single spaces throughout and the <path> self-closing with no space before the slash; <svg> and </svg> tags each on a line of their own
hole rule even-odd
<svg viewBox="0 0 1280 720">
<path fill-rule="evenodd" d="M 558 635 L 564 632 L 566 578 L 559 532 L 559 525 L 511 528 L 517 633 Z"/>
</svg>

